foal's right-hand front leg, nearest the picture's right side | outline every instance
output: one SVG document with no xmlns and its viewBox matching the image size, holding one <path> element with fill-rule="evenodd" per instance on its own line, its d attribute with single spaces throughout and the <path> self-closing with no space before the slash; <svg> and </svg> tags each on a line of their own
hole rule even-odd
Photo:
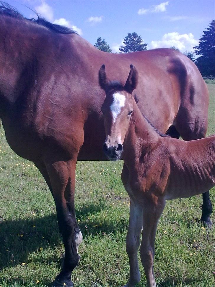
<svg viewBox="0 0 215 287">
<path fill-rule="evenodd" d="M 165 207 L 165 200 L 161 200 L 157 204 L 144 204 L 143 210 L 143 233 L 140 246 L 140 257 L 143 264 L 146 281 L 148 287 L 156 287 L 154 278 L 154 241 L 157 230 L 158 220 Z"/>
</svg>

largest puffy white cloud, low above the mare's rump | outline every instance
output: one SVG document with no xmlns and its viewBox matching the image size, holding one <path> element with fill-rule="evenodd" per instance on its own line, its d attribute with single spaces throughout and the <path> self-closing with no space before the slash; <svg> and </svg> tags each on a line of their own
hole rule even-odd
<svg viewBox="0 0 215 287">
<path fill-rule="evenodd" d="M 178 32 L 166 33 L 160 41 L 152 41 L 149 44 L 149 48 L 170 48 L 175 46 L 180 49 L 181 52 L 193 51 L 193 46 L 198 45 L 198 40 L 194 39 L 192 33 L 179 34 Z"/>
</svg>

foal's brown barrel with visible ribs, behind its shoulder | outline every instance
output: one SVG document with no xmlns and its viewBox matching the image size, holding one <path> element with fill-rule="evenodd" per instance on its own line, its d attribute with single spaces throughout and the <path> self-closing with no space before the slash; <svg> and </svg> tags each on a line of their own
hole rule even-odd
<svg viewBox="0 0 215 287">
<path fill-rule="evenodd" d="M 201 194 L 214 186 L 215 141 L 214 136 L 196 141 L 178 141 L 165 138 L 174 153 L 170 158 L 170 177 L 166 199 L 186 198 Z"/>
</svg>

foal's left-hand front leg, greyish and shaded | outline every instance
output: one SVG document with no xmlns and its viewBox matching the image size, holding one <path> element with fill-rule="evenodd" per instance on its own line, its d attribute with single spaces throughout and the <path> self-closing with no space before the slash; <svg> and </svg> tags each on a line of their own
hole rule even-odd
<svg viewBox="0 0 215 287">
<path fill-rule="evenodd" d="M 140 234 L 142 229 L 143 208 L 131 199 L 128 233 L 126 236 L 126 252 L 128 254 L 130 275 L 128 283 L 124 287 L 133 287 L 140 281 L 140 270 L 137 258 L 140 246 Z"/>
</svg>

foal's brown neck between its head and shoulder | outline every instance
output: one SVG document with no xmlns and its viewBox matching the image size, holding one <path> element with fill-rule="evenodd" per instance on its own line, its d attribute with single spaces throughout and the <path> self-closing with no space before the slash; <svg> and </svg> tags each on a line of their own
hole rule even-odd
<svg viewBox="0 0 215 287">
<path fill-rule="evenodd" d="M 139 161 L 144 153 L 148 153 L 154 148 L 160 137 L 143 117 L 134 100 L 133 107 L 133 115 L 123 143 L 125 163 Z"/>
</svg>

